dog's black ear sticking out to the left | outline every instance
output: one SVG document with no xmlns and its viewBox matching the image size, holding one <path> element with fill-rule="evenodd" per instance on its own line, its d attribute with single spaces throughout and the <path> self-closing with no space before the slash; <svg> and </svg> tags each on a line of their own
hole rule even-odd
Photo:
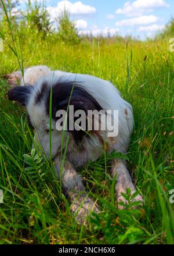
<svg viewBox="0 0 174 256">
<path fill-rule="evenodd" d="M 30 98 L 32 86 L 15 86 L 8 91 L 8 99 L 17 101 L 21 105 L 26 106 Z"/>
</svg>

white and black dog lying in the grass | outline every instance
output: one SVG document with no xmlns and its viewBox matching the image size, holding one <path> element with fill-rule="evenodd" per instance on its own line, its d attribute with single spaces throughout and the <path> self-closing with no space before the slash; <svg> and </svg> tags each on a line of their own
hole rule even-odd
<svg viewBox="0 0 174 256">
<path fill-rule="evenodd" d="M 8 98 L 26 106 L 30 123 L 35 130 L 35 144 L 40 144 L 46 157 L 49 158 L 51 155 L 55 161 L 57 175 L 62 180 L 64 192 L 71 201 L 71 210 L 77 214 L 79 222 L 84 221 L 90 211 L 97 212 L 99 209 L 97 204 L 88 197 L 81 176 L 78 175 L 74 166 L 82 166 L 88 161 L 95 161 L 106 150 L 107 152 L 116 150 L 123 154 L 126 153 L 133 129 L 132 106 L 121 97 L 112 83 L 88 74 L 51 71 L 47 66 L 34 66 L 24 70 L 24 77 L 21 72 L 13 72 L 6 78 L 8 83 L 13 86 L 8 92 Z M 20 83 L 20 86 L 17 86 L 17 83 Z M 51 127 L 50 99 L 52 100 Z M 65 149 L 66 143 L 63 143 L 62 146 L 63 132 L 56 129 L 56 122 L 60 118 L 60 116 L 57 117 L 56 112 L 60 109 L 66 111 L 70 105 L 74 107 L 74 111 L 83 110 L 86 115 L 89 110 L 98 112 L 117 110 L 118 133 L 114 137 L 110 137 L 107 129 L 72 130 L 68 126 L 64 132 L 64 141 L 69 139 L 66 161 L 61 169 L 60 154 L 62 149 Z M 114 118 L 113 115 L 111 116 Z M 88 120 L 87 117 L 86 120 Z M 68 122 L 70 120 L 67 118 Z M 102 121 L 93 119 L 92 127 L 95 122 L 101 123 Z M 124 161 L 113 159 L 111 165 L 111 177 L 117 176 L 115 186 L 117 202 L 124 201 L 126 204 L 122 193 L 126 193 L 127 188 L 135 193 L 135 186 Z M 143 201 L 140 194 L 133 200 Z M 79 205 L 81 205 L 80 208 Z M 122 206 L 118 204 L 118 208 L 122 208 Z"/>
</svg>

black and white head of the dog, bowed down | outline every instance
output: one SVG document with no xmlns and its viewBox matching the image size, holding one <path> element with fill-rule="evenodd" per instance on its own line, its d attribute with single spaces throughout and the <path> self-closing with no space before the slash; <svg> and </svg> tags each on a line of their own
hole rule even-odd
<svg viewBox="0 0 174 256">
<path fill-rule="evenodd" d="M 61 116 L 56 117 L 58 110 L 67 111 L 69 105 L 74 106 L 74 112 L 82 109 L 85 113 L 88 109 L 102 107 L 95 98 L 92 97 L 80 84 L 74 81 L 66 81 L 45 77 L 35 86 L 16 86 L 9 90 L 8 98 L 26 106 L 28 117 L 35 130 L 34 140 L 36 144 L 41 144 L 46 157 L 54 158 L 60 153 L 62 146 L 66 146 L 67 136 L 69 136 L 69 148 L 82 147 L 84 140 L 89 139 L 86 131 L 70 129 L 70 120 L 67 118 L 67 131 L 56 129 L 56 122 Z M 50 104 L 52 102 L 52 104 Z M 71 126 L 72 127 L 72 126 Z M 62 144 L 62 141 L 64 143 Z"/>
</svg>

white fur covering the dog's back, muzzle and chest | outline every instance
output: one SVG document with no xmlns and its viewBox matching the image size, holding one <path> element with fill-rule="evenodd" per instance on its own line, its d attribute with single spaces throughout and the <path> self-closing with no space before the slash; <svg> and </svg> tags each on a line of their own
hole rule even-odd
<svg viewBox="0 0 174 256">
<path fill-rule="evenodd" d="M 36 66 L 28 68 L 24 73 L 24 82 L 34 84 L 34 92 L 27 104 L 27 111 L 35 129 L 35 143 L 38 144 L 39 141 L 42 144 L 46 156 L 49 157 L 49 117 L 46 116 L 44 103 L 34 104 L 34 95 L 44 81 L 48 86 L 52 86 L 60 78 L 81 83 L 81 86 L 96 99 L 104 110 L 118 110 L 118 136 L 107 137 L 106 142 L 109 145 L 109 151 L 115 149 L 119 152 L 126 152 L 133 129 L 132 106 L 121 97 L 112 83 L 88 74 L 74 74 L 59 70 L 50 71 L 46 66 Z M 21 85 L 23 85 L 22 80 Z M 66 132 L 65 135 L 66 141 L 70 134 Z M 52 158 L 60 154 L 61 136 L 62 133 L 56 130 L 55 122 L 52 121 Z M 104 139 L 104 132 L 102 133 L 102 131 L 101 136 Z M 78 150 L 75 147 L 73 137 L 70 135 L 67 158 L 74 165 L 79 166 L 88 161 L 95 161 L 103 152 L 103 145 L 101 145 L 98 137 L 94 136 L 91 141 L 86 140 L 84 144 L 84 150 Z"/>
</svg>

